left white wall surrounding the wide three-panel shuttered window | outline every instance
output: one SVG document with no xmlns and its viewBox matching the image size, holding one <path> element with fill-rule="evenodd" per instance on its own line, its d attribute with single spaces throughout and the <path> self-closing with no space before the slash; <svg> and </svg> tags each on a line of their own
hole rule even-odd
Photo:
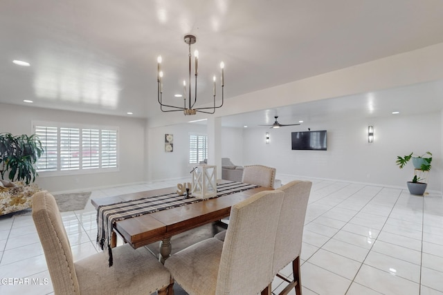
<svg viewBox="0 0 443 295">
<path fill-rule="evenodd" d="M 33 120 L 118 126 L 119 128 L 120 166 L 118 172 L 53 177 L 46 177 L 44 173 L 40 173 L 36 183 L 42 189 L 51 192 L 78 191 L 145 181 L 146 120 L 0 104 L 0 132 L 2 133 L 31 134 Z"/>
</svg>

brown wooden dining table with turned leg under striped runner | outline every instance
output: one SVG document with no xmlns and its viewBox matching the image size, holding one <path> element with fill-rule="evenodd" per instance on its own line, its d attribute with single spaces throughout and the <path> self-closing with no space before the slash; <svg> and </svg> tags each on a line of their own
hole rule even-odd
<svg viewBox="0 0 443 295">
<path fill-rule="evenodd" d="M 226 180 L 218 180 L 217 183 L 226 183 Z M 147 213 L 143 216 L 118 220 L 114 224 L 114 231 L 122 236 L 125 242 L 129 243 L 134 249 L 149 245 L 152 242 L 161 241 L 159 260 L 161 263 L 164 263 L 171 254 L 172 246 L 170 239 L 172 236 L 226 218 L 229 216 L 230 207 L 233 204 L 237 204 L 253 196 L 255 193 L 267 190 L 271 190 L 271 188 L 256 187 L 246 191 L 231 193 L 227 196 L 210 198 L 180 207 Z M 93 198 L 91 202 L 98 209 L 102 205 L 160 196 L 175 191 L 177 191 L 177 187 L 168 187 L 105 198 Z M 112 239 L 115 243 L 116 236 L 114 232 Z"/>
</svg>

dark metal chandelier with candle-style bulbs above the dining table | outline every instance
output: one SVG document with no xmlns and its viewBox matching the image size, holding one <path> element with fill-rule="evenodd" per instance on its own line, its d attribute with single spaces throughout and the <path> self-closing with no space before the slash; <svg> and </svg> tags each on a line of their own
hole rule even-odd
<svg viewBox="0 0 443 295">
<path fill-rule="evenodd" d="M 213 99 L 214 104 L 213 106 L 205 107 L 205 108 L 195 108 L 194 105 L 197 102 L 197 76 L 199 72 L 199 52 L 195 50 L 194 52 L 194 76 L 195 76 L 195 88 L 193 90 L 194 92 L 194 99 L 192 99 L 192 87 L 191 87 L 191 77 L 192 77 L 192 56 L 191 56 L 191 45 L 195 44 L 197 42 L 197 37 L 194 35 L 186 35 L 184 37 L 184 41 L 189 46 L 189 77 L 188 77 L 188 84 L 189 89 L 187 91 L 186 88 L 186 80 L 183 81 L 183 106 L 172 106 L 170 104 L 163 104 L 163 71 L 161 70 L 161 62 L 162 58 L 159 56 L 157 58 L 157 96 L 159 99 L 160 109 L 163 112 L 175 112 L 175 111 L 183 111 L 185 115 L 195 115 L 197 112 L 200 113 L 208 113 L 213 114 L 215 113 L 216 108 L 221 108 L 223 106 L 223 100 L 224 100 L 224 63 L 221 61 L 220 68 L 221 68 L 221 104 L 219 106 L 216 106 L 215 104 L 215 95 L 216 95 L 216 86 L 217 86 L 217 77 L 214 76 L 214 86 L 213 86 Z M 188 97 L 186 94 L 189 94 Z M 188 106 L 186 106 L 186 100 L 188 100 Z M 165 109 L 163 109 L 165 108 Z"/>
</svg>

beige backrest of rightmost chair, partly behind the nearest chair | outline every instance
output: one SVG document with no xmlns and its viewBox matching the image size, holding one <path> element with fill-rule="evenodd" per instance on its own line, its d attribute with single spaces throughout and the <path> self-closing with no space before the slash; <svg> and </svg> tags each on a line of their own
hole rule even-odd
<svg viewBox="0 0 443 295">
<path fill-rule="evenodd" d="M 274 274 L 300 256 L 311 186 L 312 182 L 294 180 L 280 187 L 284 191 L 284 198 L 273 250 Z"/>
</svg>

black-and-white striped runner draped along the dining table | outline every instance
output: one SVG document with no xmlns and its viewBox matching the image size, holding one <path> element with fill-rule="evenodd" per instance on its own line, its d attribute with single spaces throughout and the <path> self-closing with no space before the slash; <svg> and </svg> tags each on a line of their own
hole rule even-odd
<svg viewBox="0 0 443 295">
<path fill-rule="evenodd" d="M 248 189 L 255 189 L 257 187 L 259 186 L 242 182 L 226 182 L 224 184 L 217 184 L 217 196 L 213 198 L 226 196 L 231 193 L 238 193 L 239 191 L 247 191 Z M 116 221 L 142 216 L 144 214 L 153 213 L 156 211 L 171 209 L 186 204 L 192 204 L 202 200 L 203 199 L 192 196 L 186 199 L 183 196 L 179 196 L 177 193 L 168 193 L 161 196 L 151 196 L 138 200 L 130 200 L 116 204 L 99 206 L 97 208 L 97 242 L 98 245 L 100 245 L 100 249 L 108 249 L 109 266 L 112 266 L 112 251 L 110 247 L 111 233 Z"/>
</svg>

